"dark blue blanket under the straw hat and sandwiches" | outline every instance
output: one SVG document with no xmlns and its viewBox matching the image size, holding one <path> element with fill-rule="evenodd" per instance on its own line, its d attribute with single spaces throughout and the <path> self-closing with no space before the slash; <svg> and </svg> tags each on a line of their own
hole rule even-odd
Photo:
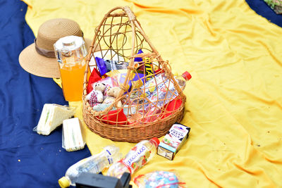
<svg viewBox="0 0 282 188">
<path fill-rule="evenodd" d="M 0 3 L 0 187 L 59 187 L 67 168 L 91 153 L 87 147 L 65 151 L 61 127 L 49 136 L 32 131 L 44 104 L 67 102 L 51 78 L 30 75 L 18 63 L 20 51 L 35 39 L 26 11 L 23 1 Z"/>
</svg>

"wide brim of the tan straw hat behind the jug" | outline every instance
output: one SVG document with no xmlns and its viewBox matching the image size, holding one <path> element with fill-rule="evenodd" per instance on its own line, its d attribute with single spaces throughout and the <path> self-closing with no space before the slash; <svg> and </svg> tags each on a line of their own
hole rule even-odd
<svg viewBox="0 0 282 188">
<path fill-rule="evenodd" d="M 92 43 L 92 40 L 85 38 L 85 46 L 87 51 Z M 40 77 L 61 77 L 59 70 L 59 63 L 56 58 L 47 58 L 37 53 L 35 49 L 35 43 L 30 44 L 18 57 L 20 66 L 31 73 Z"/>
</svg>

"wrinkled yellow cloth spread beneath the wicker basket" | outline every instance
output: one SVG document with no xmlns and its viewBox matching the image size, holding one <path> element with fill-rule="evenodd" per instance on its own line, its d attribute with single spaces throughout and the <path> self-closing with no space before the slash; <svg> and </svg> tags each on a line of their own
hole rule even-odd
<svg viewBox="0 0 282 188">
<path fill-rule="evenodd" d="M 188 70 L 180 123 L 190 137 L 173 161 L 155 156 L 134 175 L 176 170 L 187 187 L 282 187 L 282 28 L 243 0 L 25 0 L 35 35 L 51 18 L 79 23 L 85 37 L 106 12 L 130 6 L 174 74 Z M 82 120 L 81 102 L 76 115 Z M 92 154 L 116 144 L 85 126 Z M 59 178 L 59 177 L 58 177 Z"/>
</svg>

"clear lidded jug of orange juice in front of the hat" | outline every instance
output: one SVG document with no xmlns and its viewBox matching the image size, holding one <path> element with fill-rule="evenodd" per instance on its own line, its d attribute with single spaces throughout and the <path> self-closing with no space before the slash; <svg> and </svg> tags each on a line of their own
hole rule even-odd
<svg viewBox="0 0 282 188">
<path fill-rule="evenodd" d="M 85 72 L 85 42 L 82 37 L 67 36 L 54 44 L 66 101 L 81 101 Z"/>
</svg>

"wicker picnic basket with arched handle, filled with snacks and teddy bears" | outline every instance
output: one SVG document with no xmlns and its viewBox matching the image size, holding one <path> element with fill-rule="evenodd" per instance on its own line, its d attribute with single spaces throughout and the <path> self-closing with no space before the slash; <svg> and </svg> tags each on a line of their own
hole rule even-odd
<svg viewBox="0 0 282 188">
<path fill-rule="evenodd" d="M 92 132 L 140 142 L 164 136 L 183 118 L 183 89 L 191 76 L 171 73 L 128 6 L 106 13 L 86 63 L 82 114 Z"/>
</svg>

